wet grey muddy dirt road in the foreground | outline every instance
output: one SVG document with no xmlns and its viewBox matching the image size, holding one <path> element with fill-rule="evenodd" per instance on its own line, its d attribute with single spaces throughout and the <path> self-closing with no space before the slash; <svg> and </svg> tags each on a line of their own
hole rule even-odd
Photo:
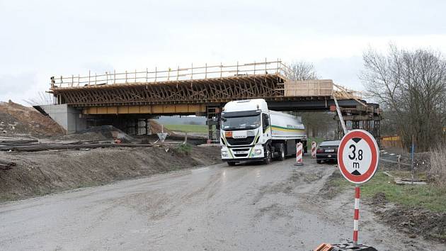
<svg viewBox="0 0 446 251">
<path fill-rule="evenodd" d="M 318 199 L 332 165 L 217 164 L 0 205 L 2 250 L 311 250 L 351 238 L 353 194 Z M 360 240 L 441 250 L 362 206 Z"/>
</svg>

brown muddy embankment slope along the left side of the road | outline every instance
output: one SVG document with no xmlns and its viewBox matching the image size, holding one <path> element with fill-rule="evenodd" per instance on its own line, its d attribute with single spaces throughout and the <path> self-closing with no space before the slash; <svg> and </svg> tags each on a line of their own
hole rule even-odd
<svg viewBox="0 0 446 251">
<path fill-rule="evenodd" d="M 96 148 L 42 152 L 0 152 L 16 167 L 0 170 L 0 201 L 25 199 L 84 186 L 107 184 L 219 162 L 219 147 Z"/>
</svg>

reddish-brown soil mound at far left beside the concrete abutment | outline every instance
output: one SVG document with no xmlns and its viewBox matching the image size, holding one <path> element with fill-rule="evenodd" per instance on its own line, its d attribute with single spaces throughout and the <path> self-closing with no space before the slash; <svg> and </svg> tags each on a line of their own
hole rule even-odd
<svg viewBox="0 0 446 251">
<path fill-rule="evenodd" d="M 50 136 L 62 135 L 65 131 L 50 117 L 44 116 L 35 108 L 9 101 L 0 102 L 0 133 Z"/>
</svg>

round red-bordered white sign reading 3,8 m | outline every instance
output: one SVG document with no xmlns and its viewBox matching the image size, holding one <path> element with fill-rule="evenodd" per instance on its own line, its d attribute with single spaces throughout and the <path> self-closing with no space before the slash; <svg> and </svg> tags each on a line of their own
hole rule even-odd
<svg viewBox="0 0 446 251">
<path fill-rule="evenodd" d="M 365 130 L 350 130 L 341 139 L 338 165 L 349 182 L 362 184 L 377 172 L 379 148 L 373 136 Z"/>
</svg>

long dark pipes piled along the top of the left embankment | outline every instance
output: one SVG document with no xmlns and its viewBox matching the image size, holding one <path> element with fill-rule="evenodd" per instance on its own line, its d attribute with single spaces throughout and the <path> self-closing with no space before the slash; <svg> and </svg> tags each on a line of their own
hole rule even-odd
<svg viewBox="0 0 446 251">
<path fill-rule="evenodd" d="M 0 151 L 37 152 L 45 150 L 79 150 L 105 147 L 151 147 L 152 144 L 115 143 L 110 141 L 39 142 L 39 140 L 0 140 Z"/>
</svg>

